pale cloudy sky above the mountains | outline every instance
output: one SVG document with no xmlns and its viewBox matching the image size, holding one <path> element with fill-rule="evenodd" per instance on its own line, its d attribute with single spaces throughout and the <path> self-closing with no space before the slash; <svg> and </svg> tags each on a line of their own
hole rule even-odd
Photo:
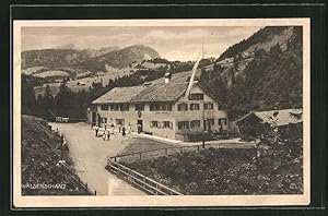
<svg viewBox="0 0 328 216">
<path fill-rule="evenodd" d="M 263 27 L 263 26 L 262 26 Z M 78 49 L 125 48 L 141 44 L 168 60 L 218 58 L 230 46 L 248 38 L 261 26 L 46 26 L 22 27 L 22 50 L 46 49 L 73 44 Z"/>
</svg>

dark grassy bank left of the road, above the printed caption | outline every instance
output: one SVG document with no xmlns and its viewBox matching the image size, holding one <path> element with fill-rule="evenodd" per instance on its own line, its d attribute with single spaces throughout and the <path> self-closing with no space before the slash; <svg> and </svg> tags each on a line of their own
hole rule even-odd
<svg viewBox="0 0 328 216">
<path fill-rule="evenodd" d="M 60 160 L 59 143 L 59 134 L 51 132 L 45 120 L 22 116 L 22 185 L 36 183 L 67 184 L 65 190 L 31 190 L 23 188 L 22 194 L 89 194 L 89 192 L 77 188 L 77 184 L 70 183 L 71 177 L 62 175 L 62 168 L 57 166 Z M 68 149 L 65 151 L 63 159 L 72 168 Z"/>
</svg>

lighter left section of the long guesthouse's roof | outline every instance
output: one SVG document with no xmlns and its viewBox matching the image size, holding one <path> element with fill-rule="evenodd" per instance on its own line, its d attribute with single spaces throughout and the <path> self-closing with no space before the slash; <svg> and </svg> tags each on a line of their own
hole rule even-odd
<svg viewBox="0 0 328 216">
<path fill-rule="evenodd" d="M 145 86 L 130 86 L 130 87 L 115 87 L 108 91 L 103 96 L 93 100 L 92 104 L 109 104 L 109 103 L 128 103 L 132 97 L 138 95 L 141 91 L 147 88 Z"/>
</svg>

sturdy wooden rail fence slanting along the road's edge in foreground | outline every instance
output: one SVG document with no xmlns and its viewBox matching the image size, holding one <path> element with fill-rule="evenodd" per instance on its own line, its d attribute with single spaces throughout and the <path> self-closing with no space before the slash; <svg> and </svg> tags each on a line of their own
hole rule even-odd
<svg viewBox="0 0 328 216">
<path fill-rule="evenodd" d="M 168 187 L 156 182 L 153 179 L 150 179 L 121 164 L 116 161 L 107 160 L 107 168 L 109 171 L 116 173 L 122 179 L 129 181 L 141 190 L 145 191 L 149 194 L 153 195 L 184 195 Z"/>
</svg>

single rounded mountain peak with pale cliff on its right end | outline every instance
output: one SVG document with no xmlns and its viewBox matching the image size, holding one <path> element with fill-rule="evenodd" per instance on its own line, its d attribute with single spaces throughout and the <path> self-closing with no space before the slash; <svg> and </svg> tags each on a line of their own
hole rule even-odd
<svg viewBox="0 0 328 216">
<path fill-rule="evenodd" d="M 85 70 L 97 69 L 104 71 L 106 64 L 113 68 L 126 68 L 134 62 L 142 60 L 156 59 L 160 55 L 156 50 L 144 45 L 133 45 L 124 49 L 114 50 L 103 56 L 87 59 L 81 62 L 81 67 Z"/>
</svg>

